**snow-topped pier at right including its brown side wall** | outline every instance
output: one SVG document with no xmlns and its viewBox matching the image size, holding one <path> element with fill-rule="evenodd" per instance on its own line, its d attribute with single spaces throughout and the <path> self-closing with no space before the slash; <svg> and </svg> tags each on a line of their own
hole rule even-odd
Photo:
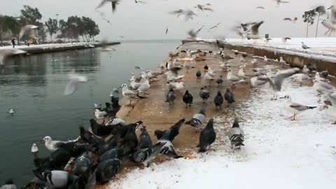
<svg viewBox="0 0 336 189">
<path fill-rule="evenodd" d="M 291 66 L 311 64 L 317 71 L 328 70 L 333 76 L 336 75 L 336 38 L 292 38 L 286 43 L 281 38 L 272 38 L 268 43 L 262 39 L 227 39 L 219 42 L 231 50 L 269 59 L 283 57 Z M 309 46 L 308 50 L 302 48 L 302 42 Z"/>
</svg>

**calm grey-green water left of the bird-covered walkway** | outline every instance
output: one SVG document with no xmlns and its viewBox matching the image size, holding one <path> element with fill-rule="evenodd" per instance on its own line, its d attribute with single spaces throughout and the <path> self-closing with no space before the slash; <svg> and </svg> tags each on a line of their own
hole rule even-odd
<svg viewBox="0 0 336 189">
<path fill-rule="evenodd" d="M 116 52 L 73 50 L 8 59 L 0 73 L 0 186 L 9 178 L 18 186 L 27 183 L 34 169 L 31 144 L 38 144 L 44 156 L 49 153 L 39 141 L 46 135 L 55 140 L 78 137 L 78 124 L 88 126 L 94 102 L 109 102 L 112 87 L 129 80 L 134 65 L 151 69 L 179 43 L 129 42 L 113 46 Z M 73 69 L 88 82 L 64 97 L 66 76 Z"/>
</svg>

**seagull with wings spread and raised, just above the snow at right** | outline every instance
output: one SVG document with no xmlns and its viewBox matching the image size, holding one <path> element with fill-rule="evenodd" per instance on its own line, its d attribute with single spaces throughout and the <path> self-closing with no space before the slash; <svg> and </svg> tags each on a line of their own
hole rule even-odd
<svg viewBox="0 0 336 189">
<path fill-rule="evenodd" d="M 274 97 L 272 98 L 272 100 L 276 100 L 277 96 L 280 94 L 281 92 L 281 86 L 283 83 L 283 80 L 285 80 L 286 78 L 293 76 L 295 73 L 297 73 L 298 71 L 300 71 L 299 68 L 293 68 L 293 69 L 286 69 L 283 71 L 277 71 L 274 77 L 274 82 L 270 79 L 270 78 L 258 78 L 259 80 L 267 80 L 269 83 L 269 88 L 270 88 L 270 92 L 274 95 Z"/>
</svg>

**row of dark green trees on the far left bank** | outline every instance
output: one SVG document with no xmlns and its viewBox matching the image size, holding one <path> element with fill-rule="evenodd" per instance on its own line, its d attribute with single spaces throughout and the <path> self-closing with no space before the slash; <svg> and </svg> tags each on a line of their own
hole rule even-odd
<svg viewBox="0 0 336 189">
<path fill-rule="evenodd" d="M 96 22 L 87 17 L 70 16 L 67 20 L 49 18 L 43 23 L 38 8 L 23 6 L 20 13 L 20 16 L 0 15 L 0 45 L 12 38 L 16 38 L 18 43 L 31 39 L 27 34 L 21 38 L 19 36 L 21 28 L 25 25 L 38 26 L 34 38 L 41 42 L 45 42 L 47 34 L 50 35 L 51 41 L 53 36 L 56 36 L 58 41 L 79 41 L 80 36 L 83 41 L 94 41 L 94 36 L 100 32 Z"/>
</svg>

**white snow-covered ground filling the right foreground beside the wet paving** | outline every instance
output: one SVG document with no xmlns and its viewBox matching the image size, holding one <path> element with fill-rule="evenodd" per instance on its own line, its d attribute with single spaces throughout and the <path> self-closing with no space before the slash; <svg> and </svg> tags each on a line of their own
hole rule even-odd
<svg viewBox="0 0 336 189">
<path fill-rule="evenodd" d="M 318 104 L 312 87 L 285 84 L 293 101 Z M 225 137 L 233 116 L 230 123 L 218 117 L 216 151 L 135 169 L 109 188 L 336 188 L 336 126 L 318 109 L 291 121 L 284 102 L 270 101 L 271 96 L 264 91 L 239 104 L 236 113 L 246 134 L 240 151 L 230 149 Z"/>
</svg>

